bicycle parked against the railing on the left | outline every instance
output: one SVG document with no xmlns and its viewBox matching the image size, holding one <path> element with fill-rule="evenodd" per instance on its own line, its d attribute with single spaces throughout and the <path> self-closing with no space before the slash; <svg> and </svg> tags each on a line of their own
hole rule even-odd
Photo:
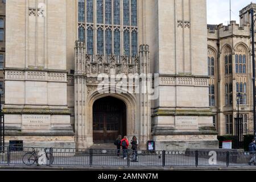
<svg viewBox="0 0 256 182">
<path fill-rule="evenodd" d="M 24 164 L 26 164 L 27 166 L 31 166 L 32 164 L 34 164 L 36 162 L 36 164 L 38 164 L 38 154 L 35 151 L 35 148 L 32 148 L 32 152 L 27 152 L 26 154 L 23 155 L 22 161 Z M 53 164 L 53 155 L 51 154 L 51 152 L 49 152 L 49 148 L 44 148 L 44 152 L 46 152 L 46 158 L 47 160 L 51 159 L 51 164 Z M 50 156 L 50 157 L 49 157 Z"/>
</svg>

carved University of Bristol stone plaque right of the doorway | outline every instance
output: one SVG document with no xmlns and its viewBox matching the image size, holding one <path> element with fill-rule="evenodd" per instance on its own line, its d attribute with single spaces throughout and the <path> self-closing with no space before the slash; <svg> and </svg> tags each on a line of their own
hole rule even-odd
<svg viewBox="0 0 256 182">
<path fill-rule="evenodd" d="M 175 117 L 176 129 L 181 130 L 197 130 L 198 117 L 194 116 L 176 116 Z"/>
</svg>

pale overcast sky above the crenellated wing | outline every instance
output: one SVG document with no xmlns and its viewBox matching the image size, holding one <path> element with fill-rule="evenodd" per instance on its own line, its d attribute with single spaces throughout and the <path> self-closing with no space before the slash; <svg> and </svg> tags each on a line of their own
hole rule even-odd
<svg viewBox="0 0 256 182">
<path fill-rule="evenodd" d="M 232 20 L 239 21 L 239 11 L 256 0 L 231 0 Z M 228 24 L 229 0 L 207 0 L 208 24 Z"/>
</svg>

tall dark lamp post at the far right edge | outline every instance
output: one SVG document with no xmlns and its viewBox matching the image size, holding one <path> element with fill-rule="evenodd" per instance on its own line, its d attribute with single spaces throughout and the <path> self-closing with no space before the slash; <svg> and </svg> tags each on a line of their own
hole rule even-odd
<svg viewBox="0 0 256 182">
<path fill-rule="evenodd" d="M 256 139 L 256 111 L 255 111 L 255 48 L 254 48 L 254 10 L 251 9 L 251 44 L 253 55 L 253 131 L 254 138 Z"/>
</svg>

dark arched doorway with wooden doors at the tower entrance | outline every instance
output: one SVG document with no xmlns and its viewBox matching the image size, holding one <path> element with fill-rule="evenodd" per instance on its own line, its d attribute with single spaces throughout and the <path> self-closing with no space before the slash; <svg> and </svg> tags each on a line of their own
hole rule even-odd
<svg viewBox="0 0 256 182">
<path fill-rule="evenodd" d="M 93 104 L 93 143 L 114 143 L 126 135 L 126 105 L 114 97 L 100 98 Z"/>
</svg>

